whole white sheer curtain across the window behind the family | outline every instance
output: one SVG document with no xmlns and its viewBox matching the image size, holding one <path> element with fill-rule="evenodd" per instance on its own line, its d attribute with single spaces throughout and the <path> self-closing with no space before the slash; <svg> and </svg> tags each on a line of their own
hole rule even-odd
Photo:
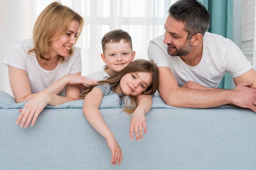
<svg viewBox="0 0 256 170">
<path fill-rule="evenodd" d="M 36 18 L 56 0 L 0 0 L 0 90 L 12 95 L 7 66 L 2 64 L 12 42 L 30 39 Z M 176 0 L 59 0 L 83 16 L 85 26 L 76 46 L 81 48 L 82 75 L 101 69 L 101 38 L 114 29 L 132 37 L 135 59 L 148 59 L 150 39 L 164 33 L 167 10 Z M 22 90 L 22 89 L 21 89 Z"/>
</svg>

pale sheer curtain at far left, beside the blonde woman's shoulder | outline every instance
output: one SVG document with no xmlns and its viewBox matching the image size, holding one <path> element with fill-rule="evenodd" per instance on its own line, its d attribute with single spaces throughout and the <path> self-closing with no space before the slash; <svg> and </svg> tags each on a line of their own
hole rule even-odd
<svg viewBox="0 0 256 170">
<path fill-rule="evenodd" d="M 35 0 L 1 0 L 0 6 L 0 89 L 12 95 L 8 68 L 2 62 L 12 42 L 32 37 L 36 6 Z"/>
</svg>

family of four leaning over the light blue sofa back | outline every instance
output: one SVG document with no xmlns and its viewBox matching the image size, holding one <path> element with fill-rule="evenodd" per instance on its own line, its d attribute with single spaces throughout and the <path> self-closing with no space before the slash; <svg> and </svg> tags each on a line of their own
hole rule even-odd
<svg viewBox="0 0 256 170">
<path fill-rule="evenodd" d="M 49 4 L 38 16 L 33 39 L 9 46 L 3 63 L 16 102 L 27 101 L 16 124 L 34 126 L 49 105 L 84 99 L 83 113 L 105 139 L 111 164 L 120 165 L 122 152 L 99 111 L 103 96 L 118 94 L 123 110 L 132 114 L 130 139 L 147 132 L 145 114 L 153 95 L 166 105 L 209 108 L 234 105 L 256 112 L 256 72 L 243 52 L 220 35 L 207 32 L 207 9 L 197 0 L 179 0 L 168 9 L 165 33 L 152 39 L 148 60 L 135 59 L 130 35 L 117 29 L 101 39 L 102 70 L 82 76 L 81 49 L 74 46 L 83 17 L 60 2 Z M 217 88 L 229 73 L 235 89 Z M 22 89 L 22 90 L 20 90 Z"/>
</svg>

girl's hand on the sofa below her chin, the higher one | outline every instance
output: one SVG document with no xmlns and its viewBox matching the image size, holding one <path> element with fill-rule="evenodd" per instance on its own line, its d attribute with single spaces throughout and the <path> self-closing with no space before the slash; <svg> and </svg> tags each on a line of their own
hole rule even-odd
<svg viewBox="0 0 256 170">
<path fill-rule="evenodd" d="M 136 110 L 135 110 L 136 111 Z M 130 124 L 130 139 L 133 139 L 133 130 L 135 132 L 136 139 L 139 140 L 139 137 L 143 139 L 142 127 L 144 133 L 147 133 L 146 118 L 143 112 L 134 112 Z"/>
</svg>

